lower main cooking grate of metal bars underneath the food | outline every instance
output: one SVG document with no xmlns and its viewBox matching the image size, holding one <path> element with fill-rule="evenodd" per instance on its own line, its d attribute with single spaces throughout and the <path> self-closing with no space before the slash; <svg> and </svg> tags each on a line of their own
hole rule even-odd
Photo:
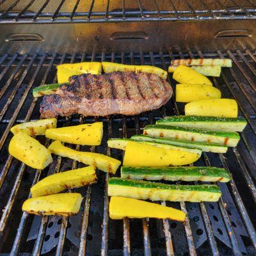
<svg viewBox="0 0 256 256">
<path fill-rule="evenodd" d="M 86 188 L 75 189 L 84 196 L 77 216 L 32 216 L 21 212 L 21 205 L 29 196 L 29 188 L 42 177 L 54 172 L 83 166 L 71 159 L 54 156 L 54 162 L 44 171 L 33 170 L 8 155 L 8 143 L 15 123 L 40 117 L 42 99 L 33 99 L 31 89 L 45 83 L 56 82 L 55 65 L 79 61 L 116 61 L 157 65 L 167 68 L 173 58 L 231 58 L 233 68 L 223 68 L 221 77 L 214 78 L 223 97 L 234 98 L 239 104 L 239 116 L 248 120 L 237 148 L 229 148 L 227 154 L 203 154 L 198 166 L 225 167 L 233 179 L 218 184 L 223 196 L 218 203 L 170 203 L 185 212 L 185 223 L 168 220 L 112 221 L 108 216 L 109 198 L 106 181 L 109 175 L 97 172 L 99 182 Z M 69 255 L 255 255 L 255 65 L 256 54 L 245 52 L 140 52 L 139 54 L 14 54 L 0 56 L 0 239 L 1 255 L 4 253 L 48 253 Z M 172 79 L 169 80 L 175 84 Z M 76 150 L 92 150 L 122 159 L 122 152 L 106 147 L 108 138 L 126 138 L 140 134 L 146 124 L 153 124 L 165 115 L 182 115 L 184 105 L 176 104 L 175 97 L 161 109 L 138 116 L 110 116 L 93 118 L 72 116 L 59 118 L 61 125 L 104 121 L 104 139 L 99 147 L 68 145 Z M 49 145 L 51 141 L 40 141 Z M 116 175 L 119 175 L 117 172 Z M 182 182 L 183 183 L 183 182 Z M 254 227 L 253 227 L 254 226 Z M 189 253 L 188 253 L 189 252 Z"/>
</svg>

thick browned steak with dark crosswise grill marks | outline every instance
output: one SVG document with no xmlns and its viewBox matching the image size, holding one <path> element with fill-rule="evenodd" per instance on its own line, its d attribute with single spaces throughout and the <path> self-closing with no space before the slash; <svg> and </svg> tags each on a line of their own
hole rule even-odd
<svg viewBox="0 0 256 256">
<path fill-rule="evenodd" d="M 137 115 L 158 109 L 172 96 L 167 81 L 156 74 L 112 72 L 72 76 L 55 94 L 44 96 L 43 118 L 81 114 L 107 116 Z"/>
</svg>

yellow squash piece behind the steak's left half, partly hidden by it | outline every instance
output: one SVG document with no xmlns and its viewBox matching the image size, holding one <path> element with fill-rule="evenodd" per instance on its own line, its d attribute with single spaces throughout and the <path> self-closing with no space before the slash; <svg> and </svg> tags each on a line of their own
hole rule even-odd
<svg viewBox="0 0 256 256">
<path fill-rule="evenodd" d="M 100 62 L 67 63 L 57 66 L 58 83 L 68 83 L 70 76 L 90 73 L 99 75 L 102 72 Z"/>
</svg>

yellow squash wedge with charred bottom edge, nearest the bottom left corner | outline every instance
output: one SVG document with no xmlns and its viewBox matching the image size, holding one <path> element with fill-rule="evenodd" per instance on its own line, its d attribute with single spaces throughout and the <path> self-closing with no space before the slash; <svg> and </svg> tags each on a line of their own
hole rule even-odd
<svg viewBox="0 0 256 256">
<path fill-rule="evenodd" d="M 79 212 L 83 197 L 79 193 L 29 198 L 22 205 L 22 211 L 36 215 L 71 216 Z"/>
</svg>

